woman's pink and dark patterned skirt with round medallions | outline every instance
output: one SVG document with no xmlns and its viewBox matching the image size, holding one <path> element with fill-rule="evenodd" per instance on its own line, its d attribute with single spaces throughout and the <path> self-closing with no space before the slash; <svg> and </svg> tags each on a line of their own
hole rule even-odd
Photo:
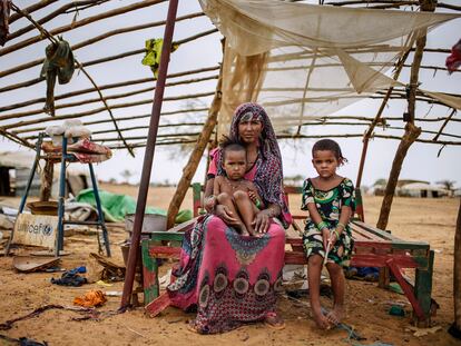
<svg viewBox="0 0 461 346">
<path fill-rule="evenodd" d="M 171 305 L 197 305 L 192 324 L 204 334 L 227 332 L 274 313 L 284 266 L 283 228 L 274 223 L 266 235 L 254 238 L 238 235 L 214 216 L 198 225 L 186 233 L 182 269 L 168 287 Z"/>
</svg>

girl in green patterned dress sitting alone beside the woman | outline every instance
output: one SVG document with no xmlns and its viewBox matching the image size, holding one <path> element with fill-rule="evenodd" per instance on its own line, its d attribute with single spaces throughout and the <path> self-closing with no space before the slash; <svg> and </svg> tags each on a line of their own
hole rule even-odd
<svg viewBox="0 0 461 346">
<path fill-rule="evenodd" d="M 354 186 L 336 174 L 346 159 L 334 140 L 322 139 L 312 148 L 312 164 L 318 176 L 306 179 L 301 209 L 310 218 L 303 235 L 307 256 L 307 279 L 315 323 L 327 329 L 341 322 L 344 312 L 344 274 L 341 263 L 352 250 L 349 221 L 354 210 Z M 327 258 L 324 259 L 326 251 Z M 330 273 L 334 306 L 324 314 L 320 301 L 320 280 L 323 264 Z"/>
</svg>

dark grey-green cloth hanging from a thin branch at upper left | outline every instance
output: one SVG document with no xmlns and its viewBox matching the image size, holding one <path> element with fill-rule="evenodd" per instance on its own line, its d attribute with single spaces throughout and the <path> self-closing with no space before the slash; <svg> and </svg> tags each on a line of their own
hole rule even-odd
<svg viewBox="0 0 461 346">
<path fill-rule="evenodd" d="M 69 43 L 61 37 L 57 45 L 49 45 L 45 52 L 47 58 L 40 72 L 40 77 L 47 79 L 47 100 L 43 110 L 55 117 L 56 76 L 60 85 L 68 83 L 73 75 L 75 60 Z"/>
</svg>

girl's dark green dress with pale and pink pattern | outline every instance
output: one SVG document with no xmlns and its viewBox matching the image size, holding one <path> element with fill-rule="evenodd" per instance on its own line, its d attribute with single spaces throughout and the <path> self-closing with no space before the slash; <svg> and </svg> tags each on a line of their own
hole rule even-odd
<svg viewBox="0 0 461 346">
<path fill-rule="evenodd" d="M 354 185 L 350 179 L 344 178 L 339 186 L 323 191 L 314 188 L 311 179 L 306 179 L 303 185 L 301 209 L 307 210 L 307 204 L 311 202 L 315 202 L 322 220 L 333 230 L 340 221 L 341 207 L 350 206 L 352 210 L 355 208 Z M 307 258 L 312 255 L 325 257 L 322 233 L 310 218 L 307 218 L 304 228 L 303 245 Z M 347 224 L 346 228 L 341 233 L 340 239 L 336 240 L 334 247 L 330 250 L 327 261 L 341 264 L 351 254 L 352 246 L 351 227 Z"/>
</svg>

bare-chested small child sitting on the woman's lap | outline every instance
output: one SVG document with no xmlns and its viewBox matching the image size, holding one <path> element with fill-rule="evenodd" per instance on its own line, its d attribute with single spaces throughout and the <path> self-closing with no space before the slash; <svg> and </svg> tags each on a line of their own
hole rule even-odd
<svg viewBox="0 0 461 346">
<path fill-rule="evenodd" d="M 228 138 L 220 147 L 225 176 L 215 177 L 213 195 L 206 199 L 205 207 L 209 210 L 217 204 L 226 206 L 237 218 L 241 234 L 254 236 L 253 220 L 262 207 L 262 199 L 255 185 L 244 179 L 247 168 L 245 147 Z"/>
</svg>

